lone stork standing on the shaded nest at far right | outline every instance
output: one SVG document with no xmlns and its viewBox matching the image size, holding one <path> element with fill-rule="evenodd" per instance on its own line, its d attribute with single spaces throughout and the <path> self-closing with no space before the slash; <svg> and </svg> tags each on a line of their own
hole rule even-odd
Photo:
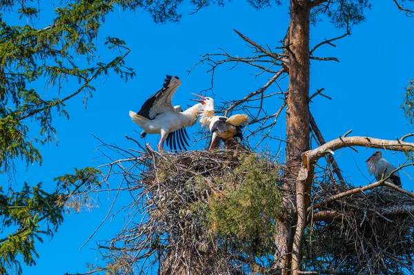
<svg viewBox="0 0 414 275">
<path fill-rule="evenodd" d="M 381 181 L 386 178 L 393 172 L 396 168 L 394 165 L 389 163 L 386 159 L 382 158 L 381 151 L 375 151 L 369 159 L 366 160 L 366 165 L 368 165 L 368 172 L 370 175 L 374 174 L 377 181 Z M 397 171 L 393 173 L 389 180 L 397 186 L 401 186 L 400 173 Z"/>
</svg>

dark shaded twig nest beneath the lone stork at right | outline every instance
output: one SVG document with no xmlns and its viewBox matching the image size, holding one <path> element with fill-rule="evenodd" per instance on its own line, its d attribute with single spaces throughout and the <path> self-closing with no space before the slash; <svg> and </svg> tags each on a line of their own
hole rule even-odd
<svg viewBox="0 0 414 275">
<path fill-rule="evenodd" d="M 319 185 L 315 203 L 355 187 Z M 319 207 L 306 240 L 307 264 L 333 274 L 413 272 L 414 198 L 390 187 L 356 192 Z M 328 217 L 326 219 L 326 217 Z"/>
</svg>

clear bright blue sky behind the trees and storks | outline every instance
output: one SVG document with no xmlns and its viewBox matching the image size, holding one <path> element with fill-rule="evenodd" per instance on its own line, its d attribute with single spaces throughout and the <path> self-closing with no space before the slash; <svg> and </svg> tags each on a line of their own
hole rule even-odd
<svg viewBox="0 0 414 275">
<path fill-rule="evenodd" d="M 45 2 L 48 3 L 48 2 Z M 43 3 L 42 3 L 43 5 Z M 45 14 L 38 22 L 39 26 L 50 24 L 50 7 L 43 9 Z M 233 32 L 239 30 L 253 41 L 270 48 L 280 46 L 288 26 L 287 6 L 275 6 L 255 11 L 244 1 L 233 1 L 225 8 L 212 6 L 200 10 L 194 15 L 187 15 L 191 7 L 180 8 L 184 14 L 180 23 L 157 25 L 146 12 L 124 12 L 117 10 L 106 19 L 97 41 L 104 37 L 115 36 L 124 39 L 132 50 L 126 59 L 126 65 L 134 68 L 137 76 L 125 83 L 115 74 L 95 81 L 97 91 L 85 109 L 81 104 L 83 96 L 78 96 L 68 103 L 70 120 L 55 119 L 59 146 L 50 144 L 41 147 L 43 165 L 32 165 L 28 171 L 22 167 L 17 175 L 17 184 L 43 182 L 50 190 L 55 187 L 52 178 L 70 173 L 74 167 L 100 164 L 97 157 L 99 141 L 91 134 L 107 143 L 117 143 L 120 147 L 132 147 L 124 136 L 135 136 L 139 130 L 128 116 L 129 110 L 139 110 L 141 104 L 155 91 L 161 88 L 166 74 L 177 75 L 182 84 L 173 98 L 175 105 L 192 104 L 190 92 L 200 92 L 210 85 L 207 65 L 198 66 L 188 74 L 188 70 L 199 61 L 199 56 L 208 52 L 219 52 L 223 48 L 240 57 L 250 55 L 246 43 Z M 404 119 L 400 105 L 404 87 L 409 79 L 414 78 L 413 53 L 413 19 L 398 12 L 393 1 L 375 1 L 372 10 L 366 10 L 366 21 L 354 26 L 351 37 L 336 41 L 336 48 L 329 45 L 315 52 L 320 57 L 337 57 L 340 63 L 312 61 L 311 94 L 317 88 L 325 88 L 324 94 L 331 96 L 328 100 L 322 96 L 315 98 L 311 112 L 322 130 L 325 139 L 336 139 L 339 135 L 353 129 L 353 135 L 374 136 L 382 139 L 395 139 L 408 132 L 413 132 Z M 324 39 L 337 37 L 344 33 L 330 26 L 328 21 L 317 23 L 311 28 L 311 47 Z M 99 54 L 108 54 L 102 47 Z M 104 58 L 104 57 L 103 57 Z M 239 65 L 234 70 L 228 66 L 219 68 L 215 75 L 213 92 L 208 92 L 217 101 L 220 99 L 240 99 L 257 90 L 266 83 L 270 75 L 253 77 L 255 71 L 246 65 Z M 282 81 L 286 89 L 286 81 Z M 45 94 L 52 94 L 53 89 L 43 88 Z M 63 92 L 75 89 L 66 85 Z M 277 92 L 277 87 L 268 92 Z M 282 100 L 275 100 L 268 106 L 269 112 L 277 110 Z M 273 134 L 284 139 L 284 117 L 281 116 Z M 190 132 L 198 130 L 194 126 Z M 33 133 L 34 135 L 34 133 Z M 148 136 L 146 142 L 156 147 L 158 136 Z M 204 143 L 197 144 L 201 148 Z M 270 150 L 277 150 L 279 143 L 263 143 Z M 338 163 L 344 176 L 355 185 L 366 185 L 372 179 L 366 172 L 364 161 L 374 150 L 357 148 L 338 150 Z M 402 163 L 404 156 L 400 153 L 386 152 L 389 161 Z M 363 172 L 359 172 L 359 169 Z M 413 174 L 413 169 L 404 169 Z M 413 182 L 402 173 L 403 186 L 413 189 Z M 112 181 L 110 187 L 117 187 L 119 182 Z M 106 193 L 94 197 L 98 207 L 89 212 L 71 213 L 66 216 L 55 237 L 37 245 L 40 258 L 34 267 L 24 267 L 23 274 L 76 274 L 86 272 L 86 263 L 95 263 L 98 255 L 96 242 L 114 236 L 123 225 L 119 215 L 108 220 L 89 243 L 79 249 L 90 234 L 106 216 L 113 195 Z M 128 201 L 127 196 L 119 198 L 116 209 Z"/>
</svg>

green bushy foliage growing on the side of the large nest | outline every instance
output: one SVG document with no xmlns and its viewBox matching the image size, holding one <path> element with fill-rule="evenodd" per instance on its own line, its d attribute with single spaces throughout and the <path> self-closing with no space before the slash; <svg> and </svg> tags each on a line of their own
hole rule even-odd
<svg viewBox="0 0 414 275">
<path fill-rule="evenodd" d="M 275 221 L 283 214 L 279 169 L 253 154 L 242 155 L 240 161 L 236 173 L 242 181 L 229 175 L 221 180 L 223 190 L 210 198 L 210 230 L 235 236 L 259 254 L 270 252 Z"/>
</svg>

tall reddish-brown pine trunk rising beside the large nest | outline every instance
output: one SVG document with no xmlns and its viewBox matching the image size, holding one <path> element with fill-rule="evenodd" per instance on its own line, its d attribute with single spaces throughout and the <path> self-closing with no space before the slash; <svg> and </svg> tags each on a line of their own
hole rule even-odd
<svg viewBox="0 0 414 275">
<path fill-rule="evenodd" d="M 277 225 L 275 236 L 275 258 L 281 260 L 276 267 L 282 267 L 282 274 L 299 271 L 305 215 L 303 210 L 309 204 L 311 187 L 305 181 L 297 181 L 301 154 L 309 149 L 309 3 L 309 0 L 290 0 L 290 24 L 288 39 L 285 39 L 286 52 L 289 53 L 287 68 L 290 85 L 286 98 L 287 144 L 284 172 L 284 189 L 288 196 L 285 196 L 284 203 L 290 218 Z M 293 214 L 295 211 L 291 202 L 296 202 L 299 213 L 297 217 Z"/>
</svg>

